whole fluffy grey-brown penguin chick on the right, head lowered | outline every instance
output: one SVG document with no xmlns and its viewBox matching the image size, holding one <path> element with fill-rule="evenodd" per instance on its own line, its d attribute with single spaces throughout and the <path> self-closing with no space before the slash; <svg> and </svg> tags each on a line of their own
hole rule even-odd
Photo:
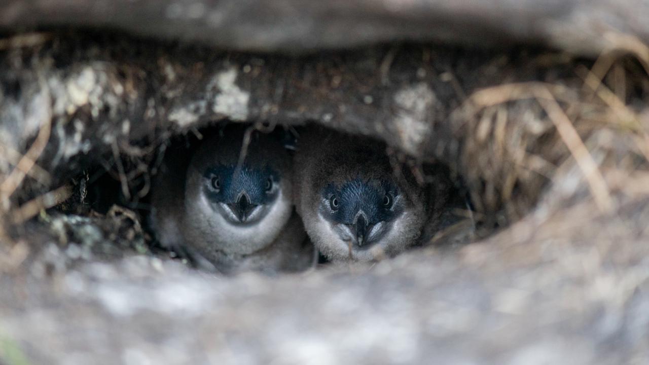
<svg viewBox="0 0 649 365">
<path fill-rule="evenodd" d="M 313 244 L 334 262 L 393 257 L 417 244 L 442 199 L 395 171 L 380 142 L 318 127 L 300 133 L 295 206 Z M 434 194 L 435 195 L 435 194 Z"/>
</svg>

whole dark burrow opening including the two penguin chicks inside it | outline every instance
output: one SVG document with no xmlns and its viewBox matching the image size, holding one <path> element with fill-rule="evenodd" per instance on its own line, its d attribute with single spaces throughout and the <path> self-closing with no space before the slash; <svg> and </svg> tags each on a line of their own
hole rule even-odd
<svg viewBox="0 0 649 365">
<path fill-rule="evenodd" d="M 315 141 L 326 141 L 323 143 L 329 147 L 315 144 L 314 137 Z M 310 140 L 305 144 L 301 138 Z M 219 143 L 224 145 L 223 149 L 219 149 Z M 71 216 L 104 222 L 94 223 L 104 228 L 104 233 L 108 233 L 104 238 L 115 245 L 92 249 L 93 253 L 99 253 L 100 259 L 119 257 L 116 251 L 125 249 L 179 259 L 197 268 L 224 273 L 302 271 L 331 261 L 377 261 L 422 247 L 454 249 L 484 238 L 500 227 L 497 219 L 485 219 L 485 214 L 475 211 L 467 185 L 454 166 L 413 158 L 373 138 L 343 134 L 315 123 L 274 127 L 260 123 L 213 123 L 202 129 L 179 132 L 162 144 L 143 143 L 138 148 L 141 153 L 136 157 L 106 155 L 97 158 L 91 168 L 71 179 L 71 198 L 55 208 Z M 303 149 L 315 151 L 300 157 Z M 289 164 L 288 168 L 281 167 L 282 173 L 276 171 L 279 166 L 273 166 L 276 165 L 273 154 L 277 153 L 283 153 Z M 204 170 L 220 168 L 217 172 L 223 174 L 218 183 L 214 177 L 212 181 L 203 181 L 201 196 L 203 193 L 214 195 L 203 197 L 212 199 L 208 204 L 212 209 L 209 213 L 227 221 L 226 231 L 234 230 L 234 236 L 230 231 L 223 233 L 212 227 L 222 221 L 210 221 L 205 214 L 191 214 L 193 208 L 184 206 L 185 199 L 190 199 L 185 195 L 185 180 L 190 179 L 188 166 L 197 164 L 195 157 L 201 154 L 210 156 Z M 314 157 L 315 160 L 309 160 Z M 339 163 L 331 166 L 332 162 Z M 270 208 L 264 212 L 265 203 L 260 199 L 268 198 L 262 190 L 270 192 L 274 188 L 264 184 L 280 186 L 286 171 L 291 173 L 292 193 L 287 197 L 290 218 L 284 216 L 276 223 L 272 221 L 275 219 L 272 215 L 278 214 L 273 210 L 276 202 L 269 201 Z M 329 180 L 323 183 L 321 179 Z M 310 186 L 305 187 L 307 183 L 320 186 L 322 190 L 315 199 L 318 203 L 312 207 L 317 214 L 309 214 L 306 203 L 301 208 L 295 207 L 296 194 L 315 194 Z M 210 184 L 218 184 L 224 191 L 216 196 Z M 302 186 L 301 193 L 297 185 Z M 208 192 L 208 188 L 212 190 Z M 201 198 L 193 199 L 199 201 Z M 305 200 L 304 197 L 300 199 Z M 324 212 L 323 206 L 330 211 Z M 160 210 L 165 210 L 162 216 Z M 260 218 L 251 223 L 245 218 L 239 220 L 241 217 L 237 214 L 254 216 L 256 210 L 260 210 Z M 410 218 L 404 220 L 409 214 Z M 313 216 L 317 218 L 315 221 Z M 207 226 L 197 223 L 201 217 L 210 223 Z M 193 221 L 188 222 L 188 219 Z M 264 220 L 269 221 L 264 223 Z M 319 231 L 319 225 L 324 223 L 330 232 Z M 65 224 L 67 239 L 77 237 L 84 241 L 73 225 Z M 237 230 L 245 231 L 257 225 L 263 225 L 264 229 L 255 231 L 252 236 L 236 236 Z M 187 233 L 188 229 L 202 229 L 210 236 Z M 271 242 L 256 242 L 268 230 L 273 231 L 271 234 L 276 238 L 267 239 Z M 299 244 L 279 242 L 295 241 L 293 235 L 299 237 Z M 232 240 L 232 244 L 222 242 L 219 236 L 228 237 L 223 240 Z M 214 250 L 213 242 L 217 246 Z M 344 249 L 349 255 L 341 255 L 343 247 L 332 248 L 336 244 L 348 245 Z M 252 248 L 248 247 L 250 245 Z M 269 248 L 271 246 L 276 248 Z M 307 252 L 317 252 L 317 255 Z M 296 260 L 301 263 L 294 264 Z"/>
</svg>

